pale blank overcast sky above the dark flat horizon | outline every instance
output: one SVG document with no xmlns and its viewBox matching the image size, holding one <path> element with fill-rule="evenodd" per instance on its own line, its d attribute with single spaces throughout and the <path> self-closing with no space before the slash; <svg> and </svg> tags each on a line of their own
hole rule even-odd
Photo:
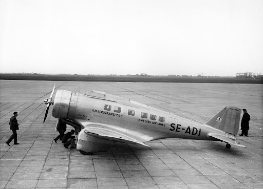
<svg viewBox="0 0 263 189">
<path fill-rule="evenodd" d="M 0 72 L 263 74 L 263 1 L 0 0 Z"/>
</svg>

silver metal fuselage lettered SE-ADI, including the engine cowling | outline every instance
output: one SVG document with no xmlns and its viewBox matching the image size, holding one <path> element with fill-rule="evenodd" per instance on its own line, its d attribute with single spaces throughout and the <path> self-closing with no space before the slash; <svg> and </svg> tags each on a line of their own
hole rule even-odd
<svg viewBox="0 0 263 189">
<path fill-rule="evenodd" d="M 209 125 L 98 91 L 78 94 L 58 90 L 52 115 L 73 121 L 82 128 L 101 125 L 142 142 L 164 138 L 217 140 L 209 137 L 208 133 L 224 133 Z"/>
</svg>

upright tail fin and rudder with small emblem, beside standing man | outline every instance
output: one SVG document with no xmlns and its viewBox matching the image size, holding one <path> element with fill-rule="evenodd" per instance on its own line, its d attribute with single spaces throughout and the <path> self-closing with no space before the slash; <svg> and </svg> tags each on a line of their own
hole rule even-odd
<svg viewBox="0 0 263 189">
<path fill-rule="evenodd" d="M 241 109 L 227 106 L 205 124 L 236 136 L 239 128 L 240 114 Z"/>
</svg>

